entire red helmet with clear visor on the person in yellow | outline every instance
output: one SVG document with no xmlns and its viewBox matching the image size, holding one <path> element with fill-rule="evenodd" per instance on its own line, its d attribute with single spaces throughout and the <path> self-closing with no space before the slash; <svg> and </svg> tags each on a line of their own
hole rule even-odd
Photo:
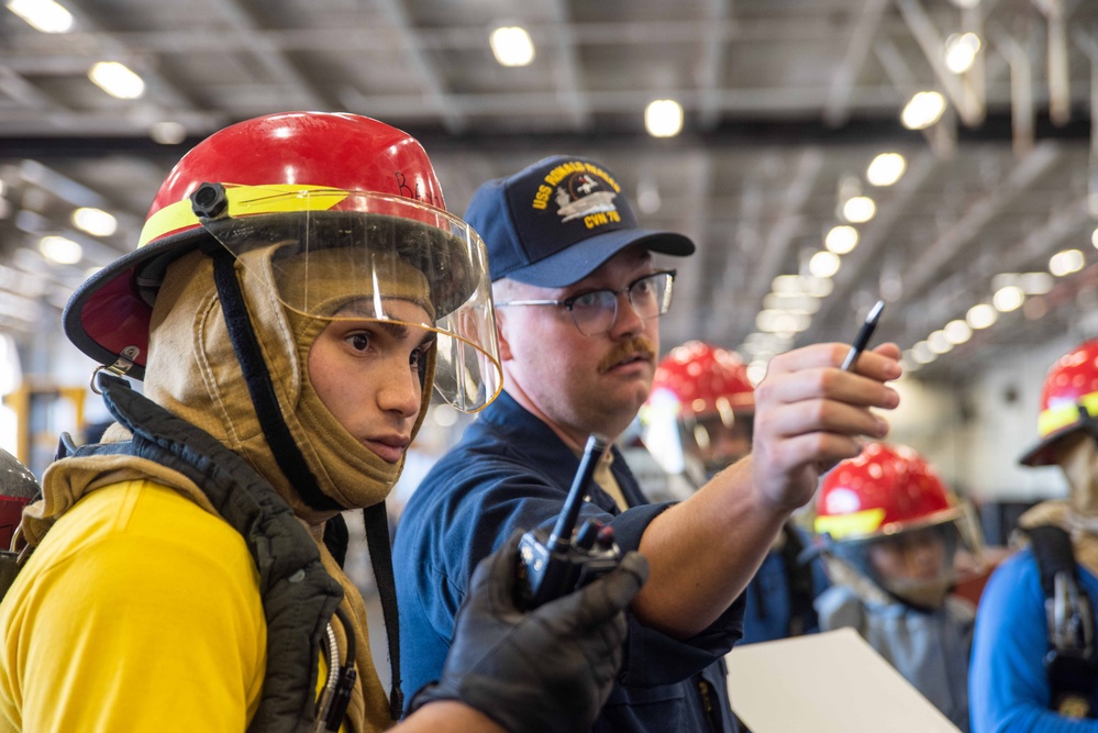
<svg viewBox="0 0 1098 733">
<path fill-rule="evenodd" d="M 207 190 L 221 195 L 214 213 L 196 206 Z M 501 379 L 487 254 L 472 227 L 444 207 L 422 146 L 382 122 L 321 112 L 240 122 L 176 164 L 137 249 L 76 291 L 63 316 L 65 332 L 96 360 L 140 379 L 153 302 L 171 260 L 213 243 L 237 256 L 234 247 L 279 242 L 306 255 L 310 248 L 329 255 L 357 248 L 348 267 L 355 276 L 363 263 L 393 259 L 423 273 L 434 300 L 435 321 L 426 325 L 450 338 L 439 345 L 435 386 L 462 392 L 456 400 L 444 393 L 455 407 L 478 409 L 495 398 Z M 310 312 L 310 303 L 282 302 Z"/>
</svg>

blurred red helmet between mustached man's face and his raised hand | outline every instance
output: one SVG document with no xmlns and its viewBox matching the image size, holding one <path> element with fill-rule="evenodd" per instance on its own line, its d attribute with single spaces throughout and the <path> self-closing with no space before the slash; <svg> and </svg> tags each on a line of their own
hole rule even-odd
<svg viewBox="0 0 1098 733">
<path fill-rule="evenodd" d="M 735 352 L 690 341 L 659 362 L 648 401 L 674 398 L 680 415 L 719 412 L 721 400 L 733 412 L 754 412 L 754 392 L 747 367 Z"/>
</svg>

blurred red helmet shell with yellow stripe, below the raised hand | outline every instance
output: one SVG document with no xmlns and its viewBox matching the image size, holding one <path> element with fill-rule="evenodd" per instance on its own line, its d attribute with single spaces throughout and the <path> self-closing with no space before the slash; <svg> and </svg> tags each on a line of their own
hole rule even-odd
<svg viewBox="0 0 1098 733">
<path fill-rule="evenodd" d="M 906 446 L 870 443 L 843 460 L 817 493 L 817 534 L 864 540 L 956 520 L 962 508 L 930 465 Z"/>
</svg>

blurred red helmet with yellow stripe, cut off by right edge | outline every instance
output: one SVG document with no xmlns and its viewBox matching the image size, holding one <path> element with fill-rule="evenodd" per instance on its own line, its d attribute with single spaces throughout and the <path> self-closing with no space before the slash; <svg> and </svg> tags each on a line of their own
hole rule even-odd
<svg viewBox="0 0 1098 733">
<path fill-rule="evenodd" d="M 1038 418 L 1040 443 L 1020 459 L 1025 466 L 1053 463 L 1053 446 L 1065 435 L 1098 419 L 1098 340 L 1061 356 L 1049 369 Z"/>
</svg>

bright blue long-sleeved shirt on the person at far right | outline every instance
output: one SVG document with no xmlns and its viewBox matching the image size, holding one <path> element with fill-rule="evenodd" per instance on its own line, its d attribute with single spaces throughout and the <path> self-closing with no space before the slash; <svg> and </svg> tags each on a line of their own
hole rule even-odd
<svg viewBox="0 0 1098 733">
<path fill-rule="evenodd" d="M 1098 579 L 1082 566 L 1079 582 L 1098 599 Z M 1073 721 L 1050 709 L 1049 649 L 1041 575 L 1027 549 L 996 568 L 980 595 L 968 676 L 973 733 L 1098 731 L 1098 720 Z M 1098 709 L 1098 688 L 1090 706 Z"/>
</svg>

